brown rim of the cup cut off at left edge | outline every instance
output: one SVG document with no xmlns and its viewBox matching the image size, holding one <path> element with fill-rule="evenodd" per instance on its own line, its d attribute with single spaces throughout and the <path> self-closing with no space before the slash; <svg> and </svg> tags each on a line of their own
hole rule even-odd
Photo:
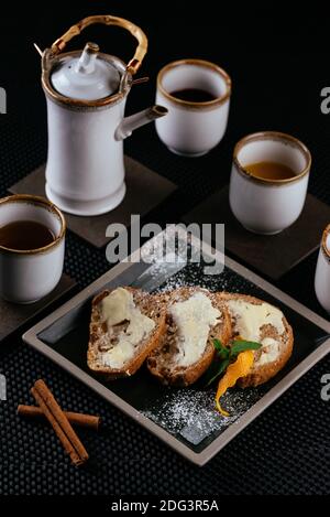
<svg viewBox="0 0 330 517">
<path fill-rule="evenodd" d="M 43 205 L 44 207 L 48 208 L 54 215 L 57 216 L 57 218 L 61 222 L 61 230 L 59 230 L 58 236 L 52 243 L 41 248 L 14 249 L 14 248 L 8 248 L 7 246 L 0 245 L 0 252 L 11 254 L 11 255 L 38 255 L 38 254 L 48 251 L 51 248 L 54 248 L 64 239 L 65 233 L 66 233 L 66 220 L 61 209 L 56 205 L 54 205 L 54 203 L 52 203 L 51 201 L 46 200 L 43 196 L 37 196 L 37 195 L 32 195 L 32 194 L 13 194 L 13 195 L 9 195 L 9 196 L 0 198 L 0 205 L 12 203 L 12 202 L 13 203 L 28 202 L 34 205 Z"/>
</svg>

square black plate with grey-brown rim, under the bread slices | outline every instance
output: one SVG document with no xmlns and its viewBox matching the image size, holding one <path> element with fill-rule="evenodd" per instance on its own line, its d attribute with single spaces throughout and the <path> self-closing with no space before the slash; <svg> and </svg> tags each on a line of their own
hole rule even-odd
<svg viewBox="0 0 330 517">
<path fill-rule="evenodd" d="M 165 259 L 160 258 L 160 249 L 166 247 L 168 233 L 158 234 L 142 248 L 144 261 L 138 261 L 141 250 L 134 252 L 128 261 L 111 269 L 26 332 L 23 340 L 179 454 L 204 465 L 328 354 L 330 323 L 238 262 L 224 259 L 208 244 L 187 236 L 183 228 L 172 229 L 177 236 L 176 246 L 166 248 Z M 187 240 L 189 254 L 186 252 Z M 219 271 L 207 274 L 206 266 L 212 260 L 213 268 L 218 266 Z M 103 383 L 87 368 L 90 302 L 96 293 L 117 286 L 140 287 L 154 292 L 185 284 L 262 298 L 279 306 L 294 328 L 294 354 L 279 375 L 262 387 L 233 388 L 226 395 L 223 406 L 230 418 L 223 418 L 215 410 L 216 388 L 206 389 L 201 380 L 184 389 L 163 387 L 142 367 L 129 379 Z"/>
</svg>

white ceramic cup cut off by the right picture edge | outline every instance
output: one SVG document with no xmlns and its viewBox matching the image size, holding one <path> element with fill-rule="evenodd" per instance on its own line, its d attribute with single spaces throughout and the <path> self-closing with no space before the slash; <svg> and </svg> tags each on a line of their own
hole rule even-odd
<svg viewBox="0 0 330 517">
<path fill-rule="evenodd" d="M 322 308 L 330 313 L 330 225 L 322 236 L 315 274 L 315 292 Z"/>
</svg>

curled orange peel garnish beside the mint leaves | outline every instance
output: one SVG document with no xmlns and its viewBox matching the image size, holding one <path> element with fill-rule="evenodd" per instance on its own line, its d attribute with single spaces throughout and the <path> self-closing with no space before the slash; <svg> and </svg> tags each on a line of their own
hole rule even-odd
<svg viewBox="0 0 330 517">
<path fill-rule="evenodd" d="M 229 365 L 224 376 L 220 379 L 216 395 L 216 406 L 223 417 L 229 417 L 230 414 L 221 408 L 220 398 L 226 394 L 228 388 L 232 388 L 237 384 L 238 379 L 245 377 L 250 373 L 253 362 L 253 351 L 241 352 L 237 360 Z"/>
</svg>

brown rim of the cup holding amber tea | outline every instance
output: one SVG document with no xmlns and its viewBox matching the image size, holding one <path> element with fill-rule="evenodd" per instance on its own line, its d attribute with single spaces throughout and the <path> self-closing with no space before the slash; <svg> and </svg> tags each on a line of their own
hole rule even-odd
<svg viewBox="0 0 330 517">
<path fill-rule="evenodd" d="M 254 141 L 260 141 L 260 140 L 282 140 L 282 141 L 288 141 L 288 142 L 294 143 L 297 148 L 299 148 L 299 150 L 305 155 L 306 166 L 302 169 L 301 172 L 299 172 L 299 174 L 296 174 L 293 177 L 287 177 L 285 180 L 268 180 L 266 177 L 258 177 L 258 176 L 252 175 L 246 169 L 244 169 L 244 166 L 240 162 L 238 155 L 239 155 L 239 152 L 241 151 L 241 149 L 246 143 L 254 142 Z M 296 137 L 294 137 L 289 133 L 285 133 L 285 132 L 282 132 L 282 131 L 257 131 L 257 132 L 254 132 L 254 133 L 246 134 L 245 137 L 241 138 L 237 142 L 237 144 L 234 147 L 234 151 L 233 151 L 233 162 L 237 165 L 238 171 L 245 179 L 249 179 L 249 180 L 254 181 L 256 183 L 264 183 L 264 184 L 267 184 L 267 185 L 278 185 L 279 186 L 279 185 L 283 185 L 283 184 L 294 183 L 298 180 L 301 180 L 301 177 L 304 177 L 306 174 L 308 174 L 310 172 L 310 168 L 311 168 L 311 154 L 310 154 L 310 151 L 307 148 L 307 146 L 305 146 L 305 143 L 302 143 L 301 140 L 299 140 L 298 138 L 296 138 Z"/>
</svg>

